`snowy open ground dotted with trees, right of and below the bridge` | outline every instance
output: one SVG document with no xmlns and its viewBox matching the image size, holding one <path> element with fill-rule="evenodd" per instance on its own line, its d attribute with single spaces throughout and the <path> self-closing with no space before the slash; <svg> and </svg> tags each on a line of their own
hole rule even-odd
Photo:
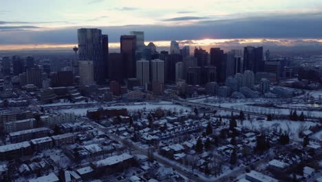
<svg viewBox="0 0 322 182">
<path fill-rule="evenodd" d="M 237 121 L 238 126 L 241 128 L 248 128 L 250 130 L 267 130 L 267 131 L 277 131 L 288 132 L 290 138 L 295 141 L 302 141 L 299 139 L 299 132 L 303 130 L 308 130 L 310 126 L 316 125 L 316 123 L 310 121 L 288 121 L 288 120 L 274 120 L 274 121 L 248 121 L 242 122 Z"/>
</svg>

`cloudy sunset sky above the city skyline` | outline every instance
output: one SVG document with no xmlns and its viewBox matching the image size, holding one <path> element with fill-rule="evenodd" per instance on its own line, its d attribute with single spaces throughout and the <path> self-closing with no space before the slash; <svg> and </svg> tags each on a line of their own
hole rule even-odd
<svg viewBox="0 0 322 182">
<path fill-rule="evenodd" d="M 100 28 L 118 48 L 121 34 L 147 43 L 322 49 L 318 0 L 1 0 L 0 50 L 71 48 L 78 28 Z"/>
</svg>

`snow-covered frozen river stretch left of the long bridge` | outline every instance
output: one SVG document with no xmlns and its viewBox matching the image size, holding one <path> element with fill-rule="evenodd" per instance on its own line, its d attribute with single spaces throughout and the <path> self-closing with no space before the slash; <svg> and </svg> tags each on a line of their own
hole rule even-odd
<svg viewBox="0 0 322 182">
<path fill-rule="evenodd" d="M 74 112 L 74 114 L 76 114 L 77 116 L 84 116 L 87 114 L 87 110 L 94 110 L 94 109 L 98 109 L 99 107 L 85 107 L 85 108 L 70 108 L 67 110 L 61 110 L 61 112 Z M 145 111 L 149 111 L 149 110 L 155 110 L 158 108 L 162 108 L 164 110 L 172 110 L 172 111 L 180 111 L 183 110 L 184 112 L 186 110 L 191 111 L 191 108 L 189 107 L 185 107 L 182 105 L 174 105 L 171 102 L 166 102 L 166 101 L 162 101 L 162 102 L 158 102 L 158 103 L 131 103 L 129 105 L 126 104 L 119 104 L 119 105 L 114 105 L 114 106 L 110 106 L 110 107 L 104 107 L 105 109 L 107 108 L 127 108 L 127 110 L 129 111 L 137 111 L 137 110 L 145 110 Z"/>
</svg>

